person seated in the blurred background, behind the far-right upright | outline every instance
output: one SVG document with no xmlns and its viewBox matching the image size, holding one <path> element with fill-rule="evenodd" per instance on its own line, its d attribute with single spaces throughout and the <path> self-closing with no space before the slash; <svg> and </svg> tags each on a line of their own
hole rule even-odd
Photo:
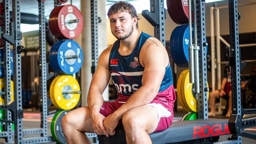
<svg viewBox="0 0 256 144">
<path fill-rule="evenodd" d="M 245 89 L 245 78 L 240 75 L 241 89 Z M 208 116 L 215 116 L 215 98 L 222 97 L 228 101 L 228 111 L 226 113 L 226 117 L 230 117 L 231 108 L 232 108 L 232 94 L 231 94 L 231 74 L 228 72 L 225 74 L 224 78 L 221 82 L 221 90 L 215 90 L 214 92 L 210 92 L 209 99 L 211 105 L 211 112 Z"/>
</svg>

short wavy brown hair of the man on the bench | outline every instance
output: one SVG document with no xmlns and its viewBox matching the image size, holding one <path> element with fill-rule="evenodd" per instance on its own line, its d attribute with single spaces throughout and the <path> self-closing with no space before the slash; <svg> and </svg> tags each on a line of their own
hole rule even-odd
<svg viewBox="0 0 256 144">
<path fill-rule="evenodd" d="M 119 12 L 127 12 L 130 13 L 130 15 L 132 16 L 132 18 L 136 17 L 137 20 L 139 20 L 140 18 L 137 15 L 136 9 L 134 6 L 132 6 L 132 4 L 128 3 L 128 2 L 117 2 L 115 4 L 113 4 L 109 10 L 108 10 L 108 18 L 109 15 L 112 15 L 114 13 L 119 13 Z M 138 22 L 136 24 L 136 26 L 138 27 Z"/>
</svg>

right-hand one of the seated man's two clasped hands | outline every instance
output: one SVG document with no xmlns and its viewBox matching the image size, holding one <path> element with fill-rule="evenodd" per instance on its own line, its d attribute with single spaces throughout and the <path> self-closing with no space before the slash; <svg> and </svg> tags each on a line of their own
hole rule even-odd
<svg viewBox="0 0 256 144">
<path fill-rule="evenodd" d="M 118 122 L 119 119 L 115 118 L 113 114 L 110 114 L 104 120 L 103 125 L 109 135 L 115 135 L 115 128 L 117 127 Z"/>
</svg>

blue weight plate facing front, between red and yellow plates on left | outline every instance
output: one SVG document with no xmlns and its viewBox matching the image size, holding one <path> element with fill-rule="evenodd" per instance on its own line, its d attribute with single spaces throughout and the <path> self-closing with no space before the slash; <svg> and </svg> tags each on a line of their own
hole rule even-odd
<svg viewBox="0 0 256 144">
<path fill-rule="evenodd" d="M 59 45 L 56 51 L 57 50 L 57 62 L 62 74 L 75 74 L 80 70 L 83 62 L 83 53 L 78 43 L 72 40 L 66 40 Z M 65 59 L 67 53 L 69 53 L 70 56 L 80 55 L 80 57 L 76 59 Z"/>
</svg>

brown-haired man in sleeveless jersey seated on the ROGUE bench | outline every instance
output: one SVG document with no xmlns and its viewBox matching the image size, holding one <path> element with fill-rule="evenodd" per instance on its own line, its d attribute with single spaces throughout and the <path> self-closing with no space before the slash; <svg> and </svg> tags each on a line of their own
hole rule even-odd
<svg viewBox="0 0 256 144">
<path fill-rule="evenodd" d="M 158 39 L 139 31 L 135 8 L 117 2 L 108 11 L 112 34 L 118 39 L 102 52 L 88 93 L 88 107 L 66 114 L 62 128 L 69 144 L 89 144 L 84 132 L 115 134 L 122 123 L 128 144 L 150 144 L 148 134 L 167 129 L 176 99 L 169 57 Z M 119 98 L 103 102 L 109 78 Z"/>
</svg>

